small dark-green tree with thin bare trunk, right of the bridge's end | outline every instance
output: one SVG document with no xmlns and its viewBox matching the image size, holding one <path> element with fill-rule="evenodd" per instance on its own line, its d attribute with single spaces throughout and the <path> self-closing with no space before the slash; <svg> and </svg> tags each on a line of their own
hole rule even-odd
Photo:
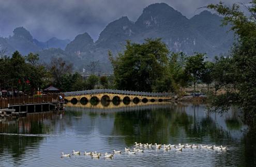
<svg viewBox="0 0 256 167">
<path fill-rule="evenodd" d="M 195 54 L 187 58 L 185 71 L 190 74 L 195 92 L 195 84 L 202 78 L 203 71 L 205 69 L 204 62 L 205 54 Z"/>
</svg>

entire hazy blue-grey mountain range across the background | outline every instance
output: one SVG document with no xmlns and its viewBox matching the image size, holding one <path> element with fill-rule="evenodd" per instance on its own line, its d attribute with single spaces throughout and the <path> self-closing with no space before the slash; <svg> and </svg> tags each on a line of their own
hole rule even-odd
<svg viewBox="0 0 256 167">
<path fill-rule="evenodd" d="M 8 53 L 18 50 L 23 55 L 38 53 L 41 61 L 62 57 L 73 62 L 81 70 L 90 61 L 100 60 L 100 71 L 111 71 L 108 50 L 114 54 L 125 49 L 126 40 L 142 43 L 146 38 L 162 38 L 171 52 L 207 53 L 209 58 L 225 54 L 233 44 L 233 33 L 222 27 L 220 16 L 209 11 L 187 19 L 182 13 L 167 4 L 152 4 L 146 7 L 136 22 L 126 16 L 109 23 L 96 42 L 86 32 L 74 40 L 51 38 L 46 42 L 33 39 L 23 27 L 14 29 L 13 36 L 0 37 L 0 49 Z"/>
</svg>

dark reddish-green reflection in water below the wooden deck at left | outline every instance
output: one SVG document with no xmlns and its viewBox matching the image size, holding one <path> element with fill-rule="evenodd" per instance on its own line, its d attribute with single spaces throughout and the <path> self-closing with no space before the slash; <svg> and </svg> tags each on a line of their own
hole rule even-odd
<svg viewBox="0 0 256 167">
<path fill-rule="evenodd" d="M 19 118 L 15 121 L 2 122 L 0 124 L 1 133 L 16 134 L 45 134 L 52 132 L 55 127 L 56 112 L 41 112 L 28 114 L 25 118 Z M 49 123 L 50 122 L 50 123 Z M 14 158 L 14 162 L 19 163 L 26 149 L 39 147 L 40 142 L 44 139 L 42 136 L 20 136 L 20 135 L 0 135 L 0 153 L 8 151 Z"/>
</svg>

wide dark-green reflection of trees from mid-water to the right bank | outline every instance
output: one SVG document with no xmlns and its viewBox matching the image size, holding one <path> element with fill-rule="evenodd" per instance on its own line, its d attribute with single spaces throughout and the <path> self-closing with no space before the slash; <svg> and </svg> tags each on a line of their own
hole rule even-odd
<svg viewBox="0 0 256 167">
<path fill-rule="evenodd" d="M 216 143 L 231 139 L 229 132 L 224 131 L 209 116 L 200 120 L 195 111 L 194 116 L 189 116 L 182 104 L 171 105 L 168 109 L 118 112 L 115 114 L 113 133 L 126 136 L 126 144 L 134 141 L 168 143 L 170 140 L 177 143 L 182 142 L 182 137 L 199 143 L 204 137 Z"/>
</svg>

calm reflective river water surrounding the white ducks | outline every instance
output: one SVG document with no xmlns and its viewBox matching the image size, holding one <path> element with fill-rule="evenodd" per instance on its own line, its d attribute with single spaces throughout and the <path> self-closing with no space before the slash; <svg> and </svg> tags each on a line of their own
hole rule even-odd
<svg viewBox="0 0 256 167">
<path fill-rule="evenodd" d="M 0 122 L 0 166 L 256 166 L 256 133 L 239 111 L 218 114 L 205 104 L 148 103 L 128 105 L 67 104 L 63 112 L 31 113 Z M 134 142 L 207 144 L 204 148 L 145 148 L 144 153 L 71 156 L 72 150 L 111 153 Z"/>
</svg>

